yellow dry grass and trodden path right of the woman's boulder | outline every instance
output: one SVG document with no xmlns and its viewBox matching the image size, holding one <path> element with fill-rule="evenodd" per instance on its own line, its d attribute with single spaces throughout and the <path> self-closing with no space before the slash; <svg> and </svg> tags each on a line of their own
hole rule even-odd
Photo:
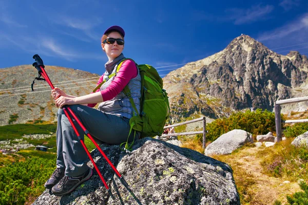
<svg viewBox="0 0 308 205">
<path fill-rule="evenodd" d="M 286 195 L 301 191 L 296 181 L 276 178 L 263 173 L 260 165 L 264 156 L 259 156 L 265 147 L 245 147 L 230 155 L 211 156 L 227 163 L 233 169 L 233 176 L 241 197 L 241 204 L 268 205 L 279 199 L 286 202 Z M 291 181 L 290 183 L 283 183 Z"/>
</svg>

